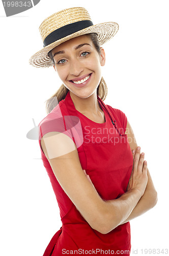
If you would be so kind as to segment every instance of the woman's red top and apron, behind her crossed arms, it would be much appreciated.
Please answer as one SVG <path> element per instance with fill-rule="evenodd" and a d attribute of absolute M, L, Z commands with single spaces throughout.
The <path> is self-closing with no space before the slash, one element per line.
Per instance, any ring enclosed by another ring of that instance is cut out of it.
<path fill-rule="evenodd" d="M 105 105 L 99 97 L 98 102 L 105 114 L 104 123 L 96 123 L 78 112 L 68 92 L 65 100 L 60 101 L 39 123 L 39 144 L 42 136 L 48 132 L 67 134 L 76 143 L 81 167 L 90 176 L 100 197 L 112 200 L 125 193 L 133 158 L 127 135 L 124 134 L 127 125 L 125 114 Z M 103 255 L 113 252 L 129 255 L 129 222 L 107 234 L 91 228 L 61 188 L 42 149 L 41 156 L 58 201 L 62 221 L 61 229 L 54 234 L 43 256 Z"/>

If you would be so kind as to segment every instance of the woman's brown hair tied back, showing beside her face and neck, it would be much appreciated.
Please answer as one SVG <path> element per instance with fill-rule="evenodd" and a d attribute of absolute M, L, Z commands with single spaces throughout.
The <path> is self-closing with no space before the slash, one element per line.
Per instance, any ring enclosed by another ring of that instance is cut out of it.
<path fill-rule="evenodd" d="M 100 44 L 98 40 L 98 36 L 96 33 L 90 33 L 88 34 L 91 37 L 91 40 L 93 41 L 93 44 L 95 45 L 95 48 L 100 55 Z M 53 61 L 53 65 L 55 66 L 55 62 L 53 59 L 53 55 L 51 51 L 48 53 L 48 56 Z M 49 114 L 55 106 L 63 99 L 65 99 L 67 93 L 69 90 L 62 84 L 62 86 L 58 89 L 57 92 L 55 92 L 49 99 L 47 99 L 46 102 L 46 113 Z M 103 79 L 103 77 L 100 80 L 99 86 L 97 88 L 97 95 L 102 99 L 105 100 L 107 96 L 107 85 Z"/>

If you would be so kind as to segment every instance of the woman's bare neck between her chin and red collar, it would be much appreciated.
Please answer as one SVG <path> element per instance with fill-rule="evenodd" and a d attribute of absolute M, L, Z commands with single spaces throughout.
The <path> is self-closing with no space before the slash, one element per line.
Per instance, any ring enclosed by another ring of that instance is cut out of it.
<path fill-rule="evenodd" d="M 80 98 L 71 91 L 70 96 L 74 103 L 75 109 L 80 113 L 97 113 L 101 109 L 97 99 L 97 91 L 95 91 L 88 98 Z"/>

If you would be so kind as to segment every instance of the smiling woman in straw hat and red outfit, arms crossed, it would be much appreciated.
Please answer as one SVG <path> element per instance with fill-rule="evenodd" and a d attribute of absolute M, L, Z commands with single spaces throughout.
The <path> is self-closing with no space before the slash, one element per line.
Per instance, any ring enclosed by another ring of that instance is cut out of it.
<path fill-rule="evenodd" d="M 30 63 L 53 66 L 63 82 L 39 124 L 42 161 L 62 221 L 44 256 L 129 255 L 129 221 L 157 202 L 125 114 L 103 102 L 100 45 L 117 31 L 117 23 L 93 25 L 84 8 L 55 13 L 40 26 L 44 49 Z"/>

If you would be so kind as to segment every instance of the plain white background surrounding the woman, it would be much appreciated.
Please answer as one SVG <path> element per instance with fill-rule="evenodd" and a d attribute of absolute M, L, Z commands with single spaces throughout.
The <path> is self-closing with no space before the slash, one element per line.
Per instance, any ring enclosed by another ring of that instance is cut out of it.
<path fill-rule="evenodd" d="M 38 125 L 46 116 L 44 102 L 62 82 L 53 68 L 34 68 L 29 58 L 43 48 L 38 30 L 43 19 L 78 6 L 88 9 L 94 24 L 119 24 L 117 35 L 104 45 L 105 103 L 126 114 L 158 192 L 157 205 L 130 222 L 131 254 L 169 247 L 168 1 L 41 0 L 11 17 L 1 2 L 2 256 L 42 256 L 62 225 L 38 140 L 26 138 L 34 127 L 32 118 Z"/>

